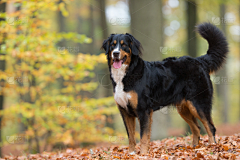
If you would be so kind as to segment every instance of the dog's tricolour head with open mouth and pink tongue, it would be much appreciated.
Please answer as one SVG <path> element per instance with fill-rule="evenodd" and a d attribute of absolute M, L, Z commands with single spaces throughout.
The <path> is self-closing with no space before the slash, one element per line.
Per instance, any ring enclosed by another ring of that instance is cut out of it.
<path fill-rule="evenodd" d="M 130 65 L 133 56 L 142 54 L 142 46 L 131 34 L 111 34 L 104 40 L 102 48 L 106 51 L 108 64 L 115 69 L 122 64 Z"/>

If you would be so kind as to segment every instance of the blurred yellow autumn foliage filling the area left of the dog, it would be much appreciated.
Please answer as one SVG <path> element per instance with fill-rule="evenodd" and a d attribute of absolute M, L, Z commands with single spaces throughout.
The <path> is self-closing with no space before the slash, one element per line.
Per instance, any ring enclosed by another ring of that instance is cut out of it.
<path fill-rule="evenodd" d="M 61 40 L 91 43 L 83 34 L 52 30 L 49 14 L 61 11 L 67 16 L 65 3 L 20 0 L 15 5 L 18 3 L 23 9 L 0 15 L 6 19 L 0 24 L 5 53 L 1 58 L 6 60 L 0 80 L 5 82 L 4 96 L 11 99 L 1 115 L 3 127 L 16 128 L 6 136 L 24 135 L 37 151 L 39 146 L 46 149 L 58 143 L 72 146 L 107 140 L 113 130 L 105 127 L 106 115 L 117 112 L 113 98 L 84 96 L 98 87 L 94 69 L 106 63 L 105 55 L 83 54 L 81 48 L 75 54 L 68 48 L 59 50 Z M 23 128 L 21 133 L 18 126 Z M 3 145 L 12 142 L 3 141 Z"/>

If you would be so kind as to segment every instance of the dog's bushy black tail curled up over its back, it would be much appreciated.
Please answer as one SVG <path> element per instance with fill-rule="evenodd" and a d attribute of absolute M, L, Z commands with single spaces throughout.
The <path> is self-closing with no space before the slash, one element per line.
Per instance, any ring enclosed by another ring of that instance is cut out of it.
<path fill-rule="evenodd" d="M 198 58 L 205 62 L 209 73 L 216 72 L 225 62 L 228 54 L 227 39 L 223 32 L 211 23 L 198 25 L 197 31 L 209 44 L 207 54 Z"/>

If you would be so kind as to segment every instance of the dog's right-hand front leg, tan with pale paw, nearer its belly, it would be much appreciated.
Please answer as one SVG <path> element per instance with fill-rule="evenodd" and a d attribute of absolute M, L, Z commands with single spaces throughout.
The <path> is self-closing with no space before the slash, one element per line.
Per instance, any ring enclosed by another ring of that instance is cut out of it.
<path fill-rule="evenodd" d="M 141 154 L 148 153 L 151 138 L 152 113 L 139 113 Z"/>

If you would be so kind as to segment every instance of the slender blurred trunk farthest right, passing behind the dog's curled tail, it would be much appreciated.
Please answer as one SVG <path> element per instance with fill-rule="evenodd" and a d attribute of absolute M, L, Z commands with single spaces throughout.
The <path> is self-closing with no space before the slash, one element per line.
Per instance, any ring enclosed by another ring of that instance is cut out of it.
<path fill-rule="evenodd" d="M 226 6 L 225 4 L 221 4 L 220 5 L 220 18 L 224 18 L 224 15 L 226 13 Z M 226 35 L 226 24 L 220 23 L 221 24 L 221 29 L 224 32 L 224 34 Z M 227 68 L 226 68 L 226 64 L 223 65 L 222 69 L 219 70 L 219 72 L 217 73 L 217 76 L 220 77 L 220 79 L 224 79 L 227 78 Z M 228 123 L 229 121 L 229 92 L 228 92 L 228 85 L 224 84 L 224 83 L 220 83 L 217 85 L 217 93 L 218 93 L 218 97 L 219 97 L 219 101 L 220 101 L 220 106 L 222 109 L 222 120 L 223 123 Z"/>

